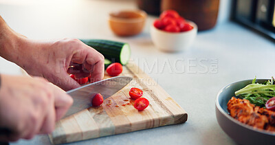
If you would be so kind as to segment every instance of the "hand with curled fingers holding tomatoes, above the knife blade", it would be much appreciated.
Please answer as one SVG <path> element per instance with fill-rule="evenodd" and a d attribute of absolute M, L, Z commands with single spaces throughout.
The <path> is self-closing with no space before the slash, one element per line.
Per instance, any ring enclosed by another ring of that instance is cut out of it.
<path fill-rule="evenodd" d="M 78 39 L 65 38 L 52 42 L 25 39 L 17 64 L 32 76 L 41 76 L 65 91 L 80 87 L 69 77 L 85 78 L 91 75 L 91 82 L 104 76 L 104 56 Z M 74 66 L 74 67 L 70 67 Z"/>

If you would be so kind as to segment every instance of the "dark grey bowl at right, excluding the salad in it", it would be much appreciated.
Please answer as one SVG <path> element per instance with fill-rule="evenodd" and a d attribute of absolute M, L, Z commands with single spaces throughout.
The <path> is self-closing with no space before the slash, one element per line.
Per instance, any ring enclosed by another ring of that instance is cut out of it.
<path fill-rule="evenodd" d="M 256 82 L 263 83 L 267 79 Z M 223 87 L 216 99 L 216 117 L 221 129 L 239 144 L 275 144 L 275 133 L 254 129 L 252 126 L 235 120 L 228 114 L 227 103 L 234 96 L 234 92 L 252 83 L 252 80 L 233 82 Z"/>

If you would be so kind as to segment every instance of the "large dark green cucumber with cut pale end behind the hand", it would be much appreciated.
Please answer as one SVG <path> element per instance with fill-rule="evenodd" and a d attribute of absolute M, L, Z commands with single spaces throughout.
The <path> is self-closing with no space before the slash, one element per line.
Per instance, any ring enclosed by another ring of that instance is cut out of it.
<path fill-rule="evenodd" d="M 80 41 L 96 49 L 111 63 L 126 65 L 131 56 L 131 49 L 128 43 L 100 39 L 80 39 Z"/>

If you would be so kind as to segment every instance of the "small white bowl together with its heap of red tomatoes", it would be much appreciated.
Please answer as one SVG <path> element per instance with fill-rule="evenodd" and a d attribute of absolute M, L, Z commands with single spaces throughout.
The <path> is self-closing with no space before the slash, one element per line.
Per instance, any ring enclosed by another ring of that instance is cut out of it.
<path fill-rule="evenodd" d="M 175 10 L 166 10 L 151 25 L 154 45 L 165 52 L 179 52 L 190 48 L 197 36 L 197 25 Z"/>

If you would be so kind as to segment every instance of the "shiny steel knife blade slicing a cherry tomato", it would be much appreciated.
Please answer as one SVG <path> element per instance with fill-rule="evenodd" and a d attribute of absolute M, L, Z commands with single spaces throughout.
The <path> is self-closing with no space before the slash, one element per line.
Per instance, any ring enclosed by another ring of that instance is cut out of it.
<path fill-rule="evenodd" d="M 73 98 L 74 103 L 63 118 L 67 118 L 69 115 L 91 107 L 91 100 L 96 93 L 100 93 L 105 100 L 120 91 L 120 89 L 129 84 L 131 80 L 133 80 L 133 78 L 128 76 L 116 76 L 67 91 L 67 94 Z"/>

